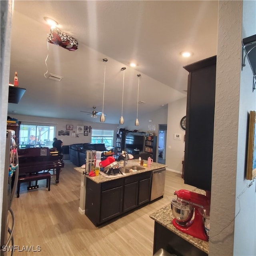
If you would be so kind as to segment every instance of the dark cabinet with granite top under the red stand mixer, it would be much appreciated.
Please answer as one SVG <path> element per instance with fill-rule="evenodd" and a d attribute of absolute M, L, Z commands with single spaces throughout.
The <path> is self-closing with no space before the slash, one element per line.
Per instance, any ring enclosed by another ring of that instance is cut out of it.
<path fill-rule="evenodd" d="M 200 240 L 175 228 L 172 224 L 171 204 L 150 215 L 155 221 L 153 254 L 160 248 L 167 252 L 183 256 L 206 256 L 209 242 Z"/>

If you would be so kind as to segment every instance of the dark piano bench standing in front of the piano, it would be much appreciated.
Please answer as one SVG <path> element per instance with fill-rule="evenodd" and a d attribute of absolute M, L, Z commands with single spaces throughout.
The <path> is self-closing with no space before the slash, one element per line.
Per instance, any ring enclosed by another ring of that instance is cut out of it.
<path fill-rule="evenodd" d="M 51 174 L 50 172 L 40 172 L 40 173 L 34 173 L 34 174 L 27 174 L 19 176 L 18 178 L 18 184 L 17 184 L 17 197 L 20 197 L 20 183 L 22 182 L 31 182 L 38 180 L 45 180 L 46 179 L 46 188 L 48 188 L 48 191 L 50 191 L 50 185 L 51 185 Z M 37 187 L 38 188 L 38 187 Z"/>

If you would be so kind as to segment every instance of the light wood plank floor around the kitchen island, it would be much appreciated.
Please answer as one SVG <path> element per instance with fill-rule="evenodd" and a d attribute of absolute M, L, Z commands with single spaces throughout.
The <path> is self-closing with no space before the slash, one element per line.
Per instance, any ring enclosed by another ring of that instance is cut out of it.
<path fill-rule="evenodd" d="M 14 198 L 12 209 L 16 217 L 14 244 L 40 246 L 40 252 L 19 252 L 15 255 L 152 255 L 154 220 L 149 215 L 170 204 L 174 190 L 192 190 L 184 184 L 181 174 L 167 171 L 164 198 L 118 220 L 95 227 L 86 215 L 78 212 L 80 173 L 65 160 L 60 183 L 55 185 L 52 176 L 48 192 L 46 180 L 38 181 L 39 188 L 27 191 L 22 183 L 20 198 Z"/>

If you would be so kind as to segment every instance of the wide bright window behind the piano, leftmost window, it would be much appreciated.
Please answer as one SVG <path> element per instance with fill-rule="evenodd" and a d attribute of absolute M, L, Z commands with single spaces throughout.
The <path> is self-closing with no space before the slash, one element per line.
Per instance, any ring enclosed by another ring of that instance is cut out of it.
<path fill-rule="evenodd" d="M 20 125 L 19 148 L 52 148 L 55 126 Z"/>

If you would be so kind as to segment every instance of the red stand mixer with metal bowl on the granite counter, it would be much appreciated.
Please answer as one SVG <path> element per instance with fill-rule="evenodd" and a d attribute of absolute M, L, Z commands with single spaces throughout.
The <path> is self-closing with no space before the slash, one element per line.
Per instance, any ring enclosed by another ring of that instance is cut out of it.
<path fill-rule="evenodd" d="M 208 236 L 204 228 L 203 210 L 210 209 L 208 197 L 189 190 L 176 190 L 172 199 L 171 208 L 174 219 L 172 224 L 180 231 L 204 241 Z M 200 211 L 200 212 L 199 212 Z M 194 214 L 194 219 L 193 218 Z"/>

